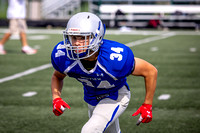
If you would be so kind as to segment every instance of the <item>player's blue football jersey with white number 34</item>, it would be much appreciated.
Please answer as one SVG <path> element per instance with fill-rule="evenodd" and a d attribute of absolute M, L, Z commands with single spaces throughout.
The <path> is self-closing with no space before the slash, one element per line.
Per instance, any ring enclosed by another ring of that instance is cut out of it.
<path fill-rule="evenodd" d="M 59 42 L 51 55 L 53 67 L 69 77 L 76 78 L 83 84 L 84 100 L 95 106 L 99 100 L 109 97 L 118 98 L 118 90 L 128 84 L 126 77 L 134 69 L 135 61 L 131 49 L 124 44 L 103 39 L 99 48 L 96 65 L 86 70 L 80 60 L 67 57 L 65 45 Z"/>

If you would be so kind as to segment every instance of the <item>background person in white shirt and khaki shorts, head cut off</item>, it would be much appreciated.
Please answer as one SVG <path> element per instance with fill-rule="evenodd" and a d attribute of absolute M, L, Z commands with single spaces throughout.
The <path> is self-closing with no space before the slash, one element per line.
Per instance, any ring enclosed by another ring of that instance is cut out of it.
<path fill-rule="evenodd" d="M 9 31 L 0 40 L 0 55 L 5 55 L 4 44 L 11 35 L 19 34 L 22 43 L 22 52 L 28 55 L 36 54 L 37 50 L 28 45 L 26 38 L 26 0 L 9 0 L 7 19 L 9 19 Z"/>

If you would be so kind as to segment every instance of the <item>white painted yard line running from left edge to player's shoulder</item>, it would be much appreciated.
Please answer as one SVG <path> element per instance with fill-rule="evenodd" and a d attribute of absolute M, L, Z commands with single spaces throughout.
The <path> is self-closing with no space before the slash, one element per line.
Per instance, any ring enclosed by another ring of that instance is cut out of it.
<path fill-rule="evenodd" d="M 37 71 L 41 71 L 41 70 L 50 68 L 51 66 L 52 66 L 51 64 L 45 64 L 45 65 L 42 65 L 42 66 L 39 66 L 39 67 L 31 68 L 31 69 L 28 69 L 28 70 L 26 70 L 26 71 L 24 71 L 24 72 L 16 73 L 16 74 L 14 74 L 14 75 L 11 75 L 11 76 L 2 78 L 2 79 L 0 79 L 0 83 L 4 83 L 4 82 L 6 82 L 6 81 L 10 81 L 10 80 L 13 80 L 13 79 L 17 79 L 17 78 L 20 78 L 20 77 L 23 77 L 23 76 L 26 76 L 26 75 L 35 73 L 35 72 L 37 72 Z"/>

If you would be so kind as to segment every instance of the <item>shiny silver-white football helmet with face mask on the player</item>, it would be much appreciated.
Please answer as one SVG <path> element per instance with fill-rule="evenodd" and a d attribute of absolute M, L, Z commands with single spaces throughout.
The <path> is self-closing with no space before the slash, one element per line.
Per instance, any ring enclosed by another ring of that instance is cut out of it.
<path fill-rule="evenodd" d="M 63 31 L 64 44 L 67 49 L 67 56 L 70 59 L 84 59 L 92 56 L 103 43 L 105 25 L 96 15 L 89 12 L 77 13 L 70 18 L 67 28 Z M 72 37 L 85 37 L 84 46 L 72 45 Z M 88 39 L 89 40 L 86 40 Z M 89 43 L 86 43 L 89 41 Z M 81 52 L 79 52 L 81 51 Z"/>

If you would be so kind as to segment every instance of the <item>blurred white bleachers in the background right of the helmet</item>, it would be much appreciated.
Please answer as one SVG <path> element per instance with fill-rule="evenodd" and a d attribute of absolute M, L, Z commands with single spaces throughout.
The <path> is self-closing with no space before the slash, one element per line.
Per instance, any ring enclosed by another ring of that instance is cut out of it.
<path fill-rule="evenodd" d="M 200 25 L 200 0 L 101 0 L 96 5 L 108 27 L 148 27 L 152 20 L 167 28 Z"/>

